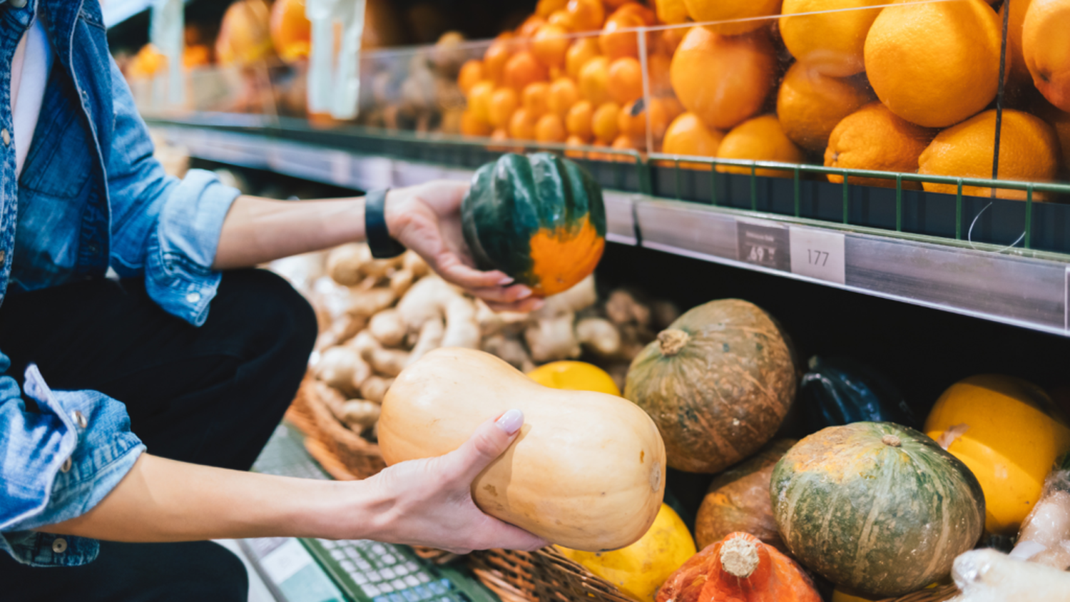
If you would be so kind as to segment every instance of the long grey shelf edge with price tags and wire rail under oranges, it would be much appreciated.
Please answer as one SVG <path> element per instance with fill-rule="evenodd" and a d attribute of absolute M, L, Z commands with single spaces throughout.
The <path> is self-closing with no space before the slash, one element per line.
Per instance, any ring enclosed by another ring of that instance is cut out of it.
<path fill-rule="evenodd" d="M 149 123 L 165 139 L 185 146 L 193 157 L 362 190 L 406 186 L 437 177 L 469 179 L 478 165 L 521 144 L 509 141 L 499 143 L 507 149 L 488 148 L 435 137 L 357 134 L 356 128 L 316 130 L 263 115 L 195 114 L 181 121 Z M 1024 234 L 1033 235 L 1033 243 L 1040 234 L 1038 230 L 1054 229 L 1061 234 L 1061 227 L 1053 223 L 1070 216 L 1067 211 L 1070 207 L 1066 205 L 942 195 L 950 197 L 958 225 L 951 236 L 945 237 L 910 232 L 903 227 L 907 217 L 917 218 L 916 213 L 906 216 L 907 209 L 920 211 L 922 217 L 928 216 L 927 211 L 933 213 L 924 202 L 907 207 L 918 202 L 916 195 L 921 195 L 920 191 L 804 181 L 798 174 L 804 169 L 800 166 L 746 161 L 752 171 L 771 167 L 796 172 L 790 179 L 754 177 L 708 168 L 682 170 L 662 165 L 676 163 L 674 157 L 651 155 L 645 161 L 635 152 L 597 151 L 611 160 L 583 163 L 606 188 L 607 238 L 611 242 L 1070 335 L 1067 303 L 1070 256 L 1011 247 L 1013 237 L 999 244 L 978 242 L 984 237 L 974 235 L 981 219 L 1007 227 L 1005 222 L 1009 220 L 996 213 L 1000 207 L 1011 212 L 1024 210 L 1025 221 L 1020 220 L 1019 226 L 1043 225 L 1043 229 L 1025 230 Z M 686 160 L 701 161 L 692 157 Z M 705 188 L 707 195 L 710 187 L 717 186 L 731 195 L 721 195 L 718 204 L 708 197 L 705 202 L 697 202 L 700 179 L 709 183 Z M 972 184 L 967 180 L 954 179 L 954 182 L 960 187 Z M 804 211 L 808 202 L 827 205 L 828 196 L 824 194 L 827 190 L 819 190 L 809 199 L 800 194 L 804 188 L 824 186 L 842 190 L 837 199 L 839 220 Z M 1034 192 L 1049 189 L 1053 194 L 1067 192 L 1063 189 L 1066 186 L 1057 185 L 1020 187 Z M 746 194 L 739 195 L 740 188 Z M 890 196 L 891 228 L 859 225 L 853 218 L 852 212 L 860 201 L 852 195 L 870 192 L 883 194 L 883 200 Z M 740 197 L 745 198 L 740 201 Z M 969 214 L 964 214 L 963 207 L 982 201 L 992 203 L 989 217 L 964 219 Z M 790 211 L 782 211 L 785 202 Z M 778 207 L 769 206 L 774 204 Z M 1034 222 L 1040 211 L 1050 215 Z M 900 227 L 898 231 L 895 222 Z M 1009 228 L 1013 227 L 1011 222 Z M 994 228 L 988 230 L 989 236 L 993 231 Z M 953 237 L 957 233 L 958 237 Z M 1025 237 L 1028 236 L 1022 235 L 1023 242 Z"/>

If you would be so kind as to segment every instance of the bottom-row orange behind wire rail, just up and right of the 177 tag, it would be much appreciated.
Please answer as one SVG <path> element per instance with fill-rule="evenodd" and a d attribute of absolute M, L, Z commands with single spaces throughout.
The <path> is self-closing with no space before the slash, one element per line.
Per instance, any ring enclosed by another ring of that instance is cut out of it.
<path fill-rule="evenodd" d="M 913 173 L 918 170 L 918 157 L 935 135 L 934 129 L 897 117 L 881 103 L 870 103 L 832 129 L 825 149 L 825 167 Z M 843 176 L 829 174 L 828 181 L 842 184 Z M 896 187 L 895 180 L 881 177 L 851 177 L 850 183 Z M 921 185 L 903 182 L 903 188 L 920 190 Z"/>

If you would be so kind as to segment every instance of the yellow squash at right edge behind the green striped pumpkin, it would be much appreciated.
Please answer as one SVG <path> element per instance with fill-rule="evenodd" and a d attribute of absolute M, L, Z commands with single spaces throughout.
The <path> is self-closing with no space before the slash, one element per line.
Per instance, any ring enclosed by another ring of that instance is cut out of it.
<path fill-rule="evenodd" d="M 1040 387 L 994 374 L 951 385 L 933 405 L 926 433 L 981 483 L 989 532 L 1018 532 L 1052 465 L 1070 450 L 1070 428 L 1057 413 Z"/>

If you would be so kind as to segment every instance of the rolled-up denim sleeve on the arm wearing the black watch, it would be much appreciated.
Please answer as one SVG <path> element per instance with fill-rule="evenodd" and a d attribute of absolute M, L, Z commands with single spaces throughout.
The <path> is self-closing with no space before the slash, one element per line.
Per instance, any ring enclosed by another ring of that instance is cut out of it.
<path fill-rule="evenodd" d="M 122 277 L 143 276 L 153 300 L 200 326 L 219 284 L 212 263 L 223 221 L 240 192 L 210 171 L 192 169 L 182 180 L 164 173 L 114 60 L 111 82 L 116 125 L 106 159 L 111 268 Z"/>

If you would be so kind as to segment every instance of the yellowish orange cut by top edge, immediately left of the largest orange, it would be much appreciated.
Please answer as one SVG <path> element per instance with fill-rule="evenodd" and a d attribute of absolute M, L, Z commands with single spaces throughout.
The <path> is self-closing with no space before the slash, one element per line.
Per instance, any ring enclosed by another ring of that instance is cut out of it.
<path fill-rule="evenodd" d="M 784 0 L 780 36 L 788 51 L 812 68 L 847 77 L 866 68 L 866 34 L 881 9 L 858 10 L 885 0 Z M 831 11 L 831 12 L 828 12 Z M 791 16 L 797 13 L 798 16 Z"/>

